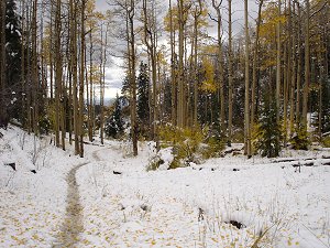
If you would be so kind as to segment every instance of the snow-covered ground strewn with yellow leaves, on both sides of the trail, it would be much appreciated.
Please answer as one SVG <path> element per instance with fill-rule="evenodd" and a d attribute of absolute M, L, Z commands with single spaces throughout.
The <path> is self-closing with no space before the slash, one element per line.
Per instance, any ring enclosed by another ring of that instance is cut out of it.
<path fill-rule="evenodd" d="M 0 247 L 61 246 L 74 168 L 84 228 L 73 247 L 330 247 L 329 150 L 146 172 L 150 143 L 140 143 L 138 158 L 125 142 L 86 145 L 79 159 L 45 138 L 35 166 L 33 137 L 22 151 L 22 131 L 1 132 Z M 314 165 L 299 171 L 298 160 Z"/>

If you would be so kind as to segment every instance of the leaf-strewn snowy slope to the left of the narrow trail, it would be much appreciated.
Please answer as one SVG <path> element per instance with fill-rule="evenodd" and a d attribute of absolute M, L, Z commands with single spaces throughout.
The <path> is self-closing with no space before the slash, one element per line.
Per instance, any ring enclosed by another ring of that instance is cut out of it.
<path fill-rule="evenodd" d="M 65 176 L 85 159 L 51 145 L 51 138 L 34 142 L 16 128 L 0 131 L 0 247 L 51 247 L 65 215 Z M 4 165 L 11 162 L 16 171 Z"/>

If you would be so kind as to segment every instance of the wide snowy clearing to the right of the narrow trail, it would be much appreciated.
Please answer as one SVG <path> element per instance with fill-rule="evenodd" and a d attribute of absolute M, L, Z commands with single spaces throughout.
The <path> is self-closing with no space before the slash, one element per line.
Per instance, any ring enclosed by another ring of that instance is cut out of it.
<path fill-rule="evenodd" d="M 241 157 L 145 172 L 152 151 L 141 148 L 138 158 L 123 159 L 123 144 L 111 143 L 80 170 L 85 246 L 251 247 L 264 233 L 258 247 L 330 246 L 330 166 L 298 173 L 294 162 Z M 327 154 L 289 155 L 320 164 Z"/>

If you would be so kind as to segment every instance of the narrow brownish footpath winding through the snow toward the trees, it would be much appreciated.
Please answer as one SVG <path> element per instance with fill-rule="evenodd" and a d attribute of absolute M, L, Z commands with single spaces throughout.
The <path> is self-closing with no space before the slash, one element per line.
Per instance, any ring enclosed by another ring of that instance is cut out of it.
<path fill-rule="evenodd" d="M 62 226 L 62 231 L 58 237 L 57 244 L 54 248 L 59 247 L 73 247 L 79 238 L 79 234 L 84 231 L 82 224 L 82 207 L 79 200 L 79 186 L 76 181 L 76 172 L 88 163 L 81 163 L 72 169 L 66 177 L 68 184 L 67 190 L 67 206 L 66 216 Z"/>

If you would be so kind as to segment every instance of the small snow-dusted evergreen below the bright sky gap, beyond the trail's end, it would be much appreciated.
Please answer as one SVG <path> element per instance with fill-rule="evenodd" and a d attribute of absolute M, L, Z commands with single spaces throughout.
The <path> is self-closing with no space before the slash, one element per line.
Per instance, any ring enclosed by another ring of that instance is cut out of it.
<path fill-rule="evenodd" d="M 114 101 L 114 109 L 110 118 L 106 121 L 106 134 L 114 139 L 119 138 L 124 130 L 124 121 L 122 118 L 122 103 L 118 95 Z"/>

